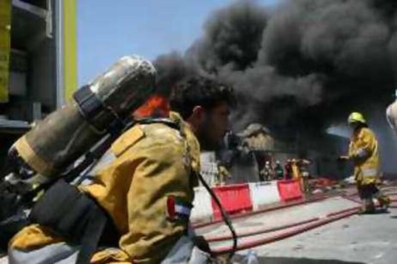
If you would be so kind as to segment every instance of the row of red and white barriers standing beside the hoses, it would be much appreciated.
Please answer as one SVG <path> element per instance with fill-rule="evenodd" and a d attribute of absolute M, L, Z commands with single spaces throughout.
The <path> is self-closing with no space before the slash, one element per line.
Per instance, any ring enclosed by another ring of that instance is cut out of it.
<path fill-rule="evenodd" d="M 229 214 L 259 211 L 277 202 L 303 198 L 300 184 L 296 180 L 231 184 L 213 187 L 212 190 Z M 195 195 L 191 222 L 208 222 L 221 217 L 219 208 L 203 187 L 196 188 Z"/>

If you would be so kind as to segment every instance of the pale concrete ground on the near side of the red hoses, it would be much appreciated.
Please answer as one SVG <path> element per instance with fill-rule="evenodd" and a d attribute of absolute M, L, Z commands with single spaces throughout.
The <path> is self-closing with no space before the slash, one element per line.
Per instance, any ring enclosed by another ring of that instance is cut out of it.
<path fill-rule="evenodd" d="M 262 263 L 397 263 L 397 210 L 353 215 L 255 248 Z M 241 255 L 247 251 L 239 252 Z M 319 262 L 321 261 L 321 262 Z"/>

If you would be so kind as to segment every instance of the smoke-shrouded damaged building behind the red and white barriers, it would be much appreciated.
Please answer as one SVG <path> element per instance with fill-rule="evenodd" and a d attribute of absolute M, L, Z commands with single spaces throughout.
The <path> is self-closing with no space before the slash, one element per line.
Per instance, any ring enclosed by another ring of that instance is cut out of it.
<path fill-rule="evenodd" d="M 266 162 L 275 166 L 278 161 L 284 167 L 292 159 L 310 160 L 308 171 L 313 177 L 340 179 L 349 176 L 351 168 L 337 162 L 335 157 L 344 153 L 347 146 L 348 139 L 341 136 L 324 133 L 315 141 L 299 135 L 274 136 L 265 126 L 253 123 L 240 133 L 228 133 L 223 150 L 203 152 L 201 166 L 207 182 L 212 185 L 219 180 L 219 165 L 230 174 L 224 178 L 226 184 L 257 182 L 265 179 Z"/>

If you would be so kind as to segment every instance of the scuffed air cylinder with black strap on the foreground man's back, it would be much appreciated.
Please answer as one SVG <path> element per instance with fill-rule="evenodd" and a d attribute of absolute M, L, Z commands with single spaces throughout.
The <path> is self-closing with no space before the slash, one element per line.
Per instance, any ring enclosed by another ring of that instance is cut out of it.
<path fill-rule="evenodd" d="M 149 61 L 138 56 L 120 58 L 12 145 L 8 158 L 14 172 L 21 179 L 59 175 L 110 129 L 123 125 L 154 92 L 155 77 Z"/>

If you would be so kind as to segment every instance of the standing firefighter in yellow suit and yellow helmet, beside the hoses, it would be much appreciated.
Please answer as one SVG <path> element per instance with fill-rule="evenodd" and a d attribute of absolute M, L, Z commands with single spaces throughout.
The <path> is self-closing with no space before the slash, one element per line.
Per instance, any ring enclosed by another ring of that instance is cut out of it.
<path fill-rule="evenodd" d="M 363 202 L 361 213 L 375 212 L 373 198 L 377 198 L 380 206 L 387 208 L 389 197 L 378 189 L 379 183 L 379 146 L 374 132 L 369 129 L 364 116 L 352 112 L 347 122 L 353 133 L 349 145 L 349 153 L 342 160 L 352 160 L 354 163 L 354 178 L 360 199 Z"/>

